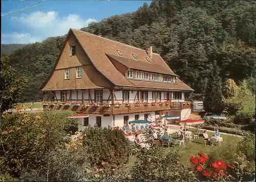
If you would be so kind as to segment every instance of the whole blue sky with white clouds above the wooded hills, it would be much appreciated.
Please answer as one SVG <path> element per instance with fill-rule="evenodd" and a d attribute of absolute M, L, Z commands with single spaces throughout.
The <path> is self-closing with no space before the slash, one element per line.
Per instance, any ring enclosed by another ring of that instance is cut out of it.
<path fill-rule="evenodd" d="M 2 1 L 1 43 L 33 43 L 65 35 L 69 28 L 80 29 L 103 18 L 136 11 L 151 1 L 42 1 L 21 11 L 16 8 L 38 1 Z"/>

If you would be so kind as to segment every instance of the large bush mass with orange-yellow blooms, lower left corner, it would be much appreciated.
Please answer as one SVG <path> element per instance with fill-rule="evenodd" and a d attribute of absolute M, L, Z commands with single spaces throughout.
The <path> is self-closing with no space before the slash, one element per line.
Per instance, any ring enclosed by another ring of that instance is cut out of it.
<path fill-rule="evenodd" d="M 63 126 L 69 123 L 69 113 L 64 115 L 53 110 L 41 112 L 40 116 L 33 113 L 5 115 L 1 128 L 0 171 L 19 177 L 27 168 L 44 166 L 45 155 L 67 141 Z"/>

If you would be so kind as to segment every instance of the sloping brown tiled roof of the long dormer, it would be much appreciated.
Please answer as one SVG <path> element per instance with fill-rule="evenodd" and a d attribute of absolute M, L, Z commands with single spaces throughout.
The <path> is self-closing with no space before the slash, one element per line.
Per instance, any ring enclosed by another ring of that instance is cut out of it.
<path fill-rule="evenodd" d="M 111 55 L 111 54 L 106 54 L 106 55 L 115 59 L 116 61 L 120 62 L 121 64 L 125 65 L 126 67 L 129 67 L 130 69 L 178 76 L 172 70 L 168 70 L 169 67 L 167 67 L 167 66 L 162 67 L 158 64 L 148 63 L 148 62 L 144 62 L 144 61 L 136 61 L 134 59 L 124 58 L 121 56 L 116 56 L 116 55 Z"/>

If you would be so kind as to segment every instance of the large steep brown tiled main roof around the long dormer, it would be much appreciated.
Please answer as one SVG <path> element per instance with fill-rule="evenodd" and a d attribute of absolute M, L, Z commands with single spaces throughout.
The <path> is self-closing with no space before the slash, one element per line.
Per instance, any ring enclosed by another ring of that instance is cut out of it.
<path fill-rule="evenodd" d="M 146 82 L 146 81 L 137 81 L 137 80 L 127 80 L 120 72 L 117 71 L 116 67 L 110 61 L 108 56 L 110 55 L 114 59 L 117 59 L 118 62 L 125 64 L 127 67 L 137 69 L 143 69 L 146 67 L 147 71 L 175 75 L 174 72 L 169 68 L 165 61 L 161 58 L 159 54 L 152 54 L 151 63 L 148 63 L 145 60 L 147 56 L 146 51 L 126 45 L 120 42 L 116 42 L 110 39 L 99 37 L 87 32 L 80 30 L 70 29 L 68 35 L 73 32 L 76 39 L 80 43 L 84 52 L 88 55 L 94 67 L 110 82 L 114 85 L 125 85 L 125 86 L 144 86 L 151 88 L 167 88 L 167 89 L 184 89 L 184 90 L 193 90 L 185 83 L 177 80 L 176 84 L 164 84 L 156 82 Z M 120 50 L 123 53 L 122 57 L 118 56 L 116 50 Z M 136 54 L 138 60 L 134 60 L 132 54 Z M 116 55 L 116 56 L 115 56 Z M 127 63 L 127 62 L 129 63 Z M 135 64 L 137 63 L 137 64 Z M 57 61 L 55 63 L 55 66 Z M 148 66 L 147 66 L 148 65 Z M 145 70 L 145 69 L 144 69 Z M 52 74 L 49 76 L 49 78 Z M 166 87 L 167 86 L 167 87 Z"/>

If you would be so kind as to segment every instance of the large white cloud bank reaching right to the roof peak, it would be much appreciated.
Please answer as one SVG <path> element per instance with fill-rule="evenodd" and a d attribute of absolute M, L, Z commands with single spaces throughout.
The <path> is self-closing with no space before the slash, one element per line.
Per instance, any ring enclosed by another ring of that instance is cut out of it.
<path fill-rule="evenodd" d="M 31 14 L 23 14 L 20 17 L 12 17 L 11 19 L 15 21 L 15 24 L 25 26 L 30 33 L 15 32 L 12 34 L 2 34 L 5 42 L 8 43 L 32 43 L 38 40 L 41 41 L 47 37 L 65 35 L 70 28 L 81 29 L 87 27 L 93 21 L 97 22 L 94 18 L 83 19 L 76 14 L 59 17 L 58 12 L 55 11 L 36 11 Z"/>

